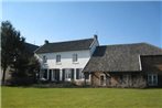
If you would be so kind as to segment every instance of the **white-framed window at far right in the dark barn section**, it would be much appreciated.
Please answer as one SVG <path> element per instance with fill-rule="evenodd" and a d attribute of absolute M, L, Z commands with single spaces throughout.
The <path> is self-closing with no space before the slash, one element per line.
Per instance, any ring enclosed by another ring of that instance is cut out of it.
<path fill-rule="evenodd" d="M 148 75 L 148 85 L 150 85 L 150 86 L 158 85 L 158 75 L 156 74 L 149 74 Z"/>

